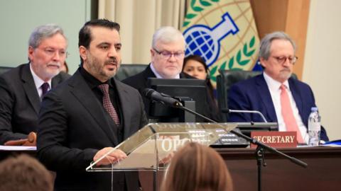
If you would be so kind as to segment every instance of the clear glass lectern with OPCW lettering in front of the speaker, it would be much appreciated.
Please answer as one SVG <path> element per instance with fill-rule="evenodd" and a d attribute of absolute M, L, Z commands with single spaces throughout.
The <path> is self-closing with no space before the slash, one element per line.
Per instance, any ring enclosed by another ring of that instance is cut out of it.
<path fill-rule="evenodd" d="M 166 170 L 170 156 L 186 142 L 196 141 L 209 146 L 220 138 L 220 134 L 226 134 L 235 127 L 237 123 L 151 123 L 92 162 L 86 170 L 152 170 L 157 173 L 158 170 Z M 99 161 L 116 149 L 124 151 L 127 157 L 108 166 L 97 166 Z M 154 175 L 154 182 L 156 177 Z"/>

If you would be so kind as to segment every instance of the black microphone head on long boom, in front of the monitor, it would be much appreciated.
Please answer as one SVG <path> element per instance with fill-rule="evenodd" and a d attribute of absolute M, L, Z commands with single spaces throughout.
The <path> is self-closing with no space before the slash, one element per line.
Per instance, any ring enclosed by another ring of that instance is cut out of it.
<path fill-rule="evenodd" d="M 183 106 L 182 103 L 180 103 L 178 100 L 175 100 L 171 96 L 168 96 L 164 93 L 158 93 L 151 88 L 145 88 L 144 91 L 142 91 L 142 96 L 145 96 L 146 98 L 154 101 L 158 101 L 163 105 L 171 106 L 173 108 L 181 108 Z"/>

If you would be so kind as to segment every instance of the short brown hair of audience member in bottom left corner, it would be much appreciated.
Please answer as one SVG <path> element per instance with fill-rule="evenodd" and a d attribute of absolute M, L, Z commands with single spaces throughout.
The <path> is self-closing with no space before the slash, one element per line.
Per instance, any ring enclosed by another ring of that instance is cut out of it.
<path fill-rule="evenodd" d="M 52 191 L 53 176 L 36 158 L 9 157 L 0 163 L 0 190 Z"/>

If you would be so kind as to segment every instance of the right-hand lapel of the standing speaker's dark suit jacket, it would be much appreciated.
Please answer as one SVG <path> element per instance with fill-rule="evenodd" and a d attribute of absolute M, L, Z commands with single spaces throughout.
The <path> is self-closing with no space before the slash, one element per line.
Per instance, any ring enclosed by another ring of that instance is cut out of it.
<path fill-rule="evenodd" d="M 117 88 L 117 93 L 119 94 L 119 104 L 121 105 L 121 112 L 124 121 L 124 139 L 129 137 L 130 127 L 131 127 L 131 108 L 127 107 L 129 104 L 129 98 L 131 95 L 126 91 L 124 86 L 114 79 L 115 86 Z"/>

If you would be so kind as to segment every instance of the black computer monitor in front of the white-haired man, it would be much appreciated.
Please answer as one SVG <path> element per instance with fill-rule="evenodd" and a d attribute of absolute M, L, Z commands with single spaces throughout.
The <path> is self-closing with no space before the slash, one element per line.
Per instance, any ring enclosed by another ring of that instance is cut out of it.
<path fill-rule="evenodd" d="M 147 81 L 148 88 L 153 88 L 159 93 L 167 94 L 181 100 L 193 100 L 195 111 L 201 115 L 209 116 L 207 110 L 207 88 L 204 80 L 200 79 L 156 79 Z M 178 108 L 171 108 L 161 103 L 153 102 L 149 105 L 149 117 L 152 122 L 185 122 L 185 112 Z M 185 105 L 186 107 L 186 105 Z M 204 122 L 200 117 L 195 117 L 195 122 Z"/>

